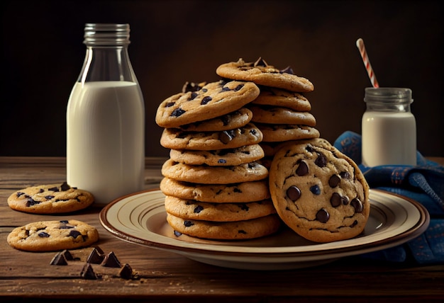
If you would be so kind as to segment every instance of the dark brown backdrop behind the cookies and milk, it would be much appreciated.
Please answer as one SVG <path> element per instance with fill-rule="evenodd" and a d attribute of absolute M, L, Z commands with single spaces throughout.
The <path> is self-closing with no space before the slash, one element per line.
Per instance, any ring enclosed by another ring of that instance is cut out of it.
<path fill-rule="evenodd" d="M 290 65 L 321 136 L 360 133 L 370 86 L 411 88 L 418 150 L 444 156 L 443 6 L 438 1 L 3 1 L 0 156 L 65 156 L 65 110 L 82 67 L 84 23 L 130 23 L 146 108 L 146 155 L 167 156 L 157 105 L 185 81 L 215 81 L 239 57 Z"/>

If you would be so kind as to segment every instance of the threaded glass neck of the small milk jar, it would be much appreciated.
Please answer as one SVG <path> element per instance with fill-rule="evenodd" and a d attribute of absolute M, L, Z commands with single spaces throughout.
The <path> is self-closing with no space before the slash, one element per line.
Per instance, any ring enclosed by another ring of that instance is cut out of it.
<path fill-rule="evenodd" d="M 409 113 L 413 102 L 409 88 L 365 88 L 367 111 Z"/>

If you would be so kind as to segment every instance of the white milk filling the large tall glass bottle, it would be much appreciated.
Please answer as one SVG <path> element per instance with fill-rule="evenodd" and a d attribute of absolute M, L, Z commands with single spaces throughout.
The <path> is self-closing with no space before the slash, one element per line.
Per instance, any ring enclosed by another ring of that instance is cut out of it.
<path fill-rule="evenodd" d="M 107 204 L 143 189 L 145 110 L 137 84 L 74 84 L 67 105 L 67 183 Z"/>

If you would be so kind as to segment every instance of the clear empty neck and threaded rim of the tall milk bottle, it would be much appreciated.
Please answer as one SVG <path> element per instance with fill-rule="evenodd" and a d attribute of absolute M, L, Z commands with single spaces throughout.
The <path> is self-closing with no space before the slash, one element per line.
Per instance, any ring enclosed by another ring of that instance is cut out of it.
<path fill-rule="evenodd" d="M 85 25 L 87 52 L 77 81 L 131 81 L 137 83 L 128 56 L 128 24 Z"/>

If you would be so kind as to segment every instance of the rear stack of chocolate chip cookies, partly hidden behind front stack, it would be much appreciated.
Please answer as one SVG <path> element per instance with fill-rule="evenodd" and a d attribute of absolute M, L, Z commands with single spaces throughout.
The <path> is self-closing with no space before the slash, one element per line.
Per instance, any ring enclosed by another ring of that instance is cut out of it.
<path fill-rule="evenodd" d="M 319 137 L 316 119 L 310 113 L 311 104 L 302 93 L 313 91 L 308 79 L 296 76 L 291 68 L 279 70 L 262 58 L 256 62 L 221 64 L 216 69 L 219 76 L 238 81 L 252 81 L 260 94 L 248 105 L 252 122 L 263 134 L 261 147 L 265 151 L 262 163 L 269 167 L 280 144 L 290 140 Z"/>

